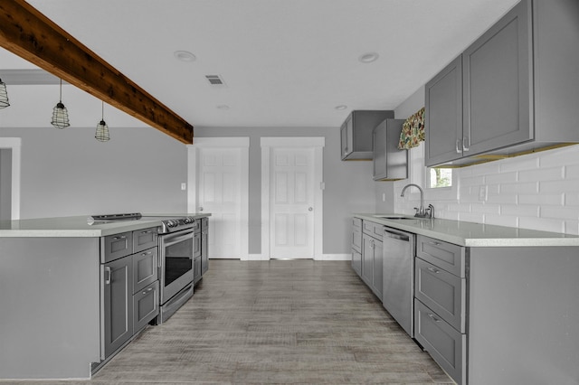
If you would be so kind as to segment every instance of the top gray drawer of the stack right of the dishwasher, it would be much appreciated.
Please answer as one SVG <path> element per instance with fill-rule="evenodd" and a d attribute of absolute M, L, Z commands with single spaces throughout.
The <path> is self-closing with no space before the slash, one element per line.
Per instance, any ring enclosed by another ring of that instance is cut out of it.
<path fill-rule="evenodd" d="M 458 277 L 466 277 L 466 248 L 419 235 L 416 238 L 416 257 Z"/>

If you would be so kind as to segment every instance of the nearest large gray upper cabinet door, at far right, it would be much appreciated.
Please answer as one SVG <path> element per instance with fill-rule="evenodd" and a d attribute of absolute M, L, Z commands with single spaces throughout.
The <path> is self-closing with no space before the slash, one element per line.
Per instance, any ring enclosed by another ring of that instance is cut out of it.
<path fill-rule="evenodd" d="M 523 1 L 463 52 L 464 155 L 533 139 L 530 26 Z"/>

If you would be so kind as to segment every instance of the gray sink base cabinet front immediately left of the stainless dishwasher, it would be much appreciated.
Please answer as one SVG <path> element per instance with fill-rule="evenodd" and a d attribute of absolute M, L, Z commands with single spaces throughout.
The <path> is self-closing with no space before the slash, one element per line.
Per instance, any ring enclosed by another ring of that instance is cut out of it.
<path fill-rule="evenodd" d="M 372 221 L 363 221 L 362 234 L 362 280 L 372 289 L 375 296 L 382 301 L 383 296 L 383 243 L 384 225 Z"/>

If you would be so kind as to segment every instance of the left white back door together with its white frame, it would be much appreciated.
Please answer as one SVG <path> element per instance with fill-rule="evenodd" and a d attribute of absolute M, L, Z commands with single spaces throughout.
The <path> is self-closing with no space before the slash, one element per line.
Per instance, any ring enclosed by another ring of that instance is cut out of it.
<path fill-rule="evenodd" d="M 211 213 L 209 258 L 247 259 L 247 147 L 226 146 L 228 138 L 222 138 L 221 146 L 218 138 L 211 146 L 200 139 L 193 146 L 195 183 L 189 185 L 195 193 L 189 211 Z"/>

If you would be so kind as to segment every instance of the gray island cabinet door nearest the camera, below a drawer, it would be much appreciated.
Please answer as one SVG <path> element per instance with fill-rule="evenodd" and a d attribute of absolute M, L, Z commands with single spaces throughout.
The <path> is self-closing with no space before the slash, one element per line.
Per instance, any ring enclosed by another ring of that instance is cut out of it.
<path fill-rule="evenodd" d="M 104 356 L 133 336 L 133 261 L 131 256 L 104 265 Z"/>

